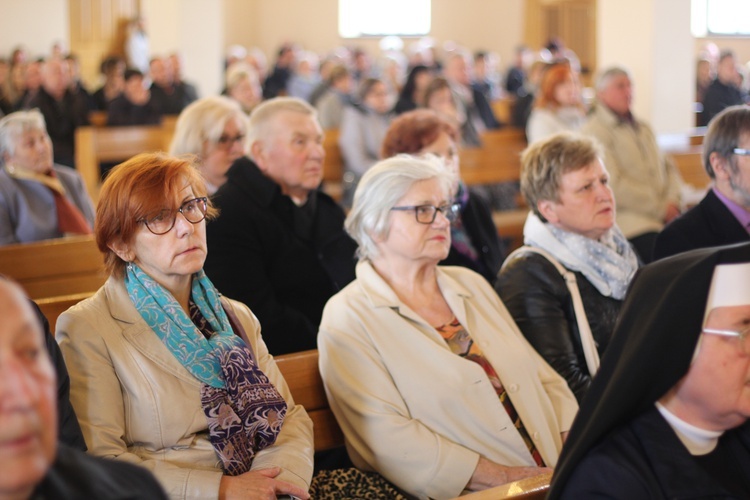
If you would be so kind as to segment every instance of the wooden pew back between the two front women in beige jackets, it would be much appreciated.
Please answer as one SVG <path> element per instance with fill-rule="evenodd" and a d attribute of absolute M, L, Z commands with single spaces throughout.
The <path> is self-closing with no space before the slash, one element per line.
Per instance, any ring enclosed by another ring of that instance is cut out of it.
<path fill-rule="evenodd" d="M 294 402 L 304 406 L 313 421 L 315 451 L 343 446 L 344 435 L 328 406 L 323 380 L 318 371 L 318 351 L 284 354 L 275 359 L 289 385 Z"/>

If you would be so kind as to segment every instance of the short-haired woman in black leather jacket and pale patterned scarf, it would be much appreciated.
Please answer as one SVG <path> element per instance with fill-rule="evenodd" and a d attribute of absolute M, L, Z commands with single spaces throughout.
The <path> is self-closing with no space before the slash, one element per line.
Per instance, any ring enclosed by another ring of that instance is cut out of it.
<path fill-rule="evenodd" d="M 615 224 L 615 199 L 598 146 L 561 133 L 521 156 L 531 207 L 524 243 L 495 289 L 528 341 L 580 402 L 609 344 L 638 259 Z"/>

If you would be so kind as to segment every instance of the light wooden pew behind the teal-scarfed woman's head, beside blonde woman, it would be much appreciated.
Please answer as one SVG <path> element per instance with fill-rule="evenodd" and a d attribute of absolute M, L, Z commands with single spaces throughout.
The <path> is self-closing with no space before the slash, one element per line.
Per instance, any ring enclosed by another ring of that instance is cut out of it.
<path fill-rule="evenodd" d="M 149 151 L 166 151 L 171 133 L 160 126 L 78 127 L 75 133 L 76 169 L 91 199 L 99 199 L 101 162 L 120 162 Z"/>

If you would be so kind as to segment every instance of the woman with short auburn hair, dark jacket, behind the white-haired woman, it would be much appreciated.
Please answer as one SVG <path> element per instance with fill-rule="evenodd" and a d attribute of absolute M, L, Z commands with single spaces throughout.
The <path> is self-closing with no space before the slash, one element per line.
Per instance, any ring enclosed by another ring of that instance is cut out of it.
<path fill-rule="evenodd" d="M 463 266 L 495 282 L 505 252 L 492 222 L 487 203 L 469 192 L 458 177 L 458 131 L 435 111 L 419 109 L 404 113 L 391 123 L 381 150 L 383 158 L 400 153 L 433 154 L 443 159 L 458 182 L 451 193 L 460 211 L 451 223 L 451 248 L 440 264 Z"/>

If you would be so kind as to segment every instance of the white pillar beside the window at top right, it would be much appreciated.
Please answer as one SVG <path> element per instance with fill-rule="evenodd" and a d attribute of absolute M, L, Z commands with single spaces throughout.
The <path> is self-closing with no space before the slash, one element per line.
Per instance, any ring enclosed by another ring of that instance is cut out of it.
<path fill-rule="evenodd" d="M 631 71 L 637 116 L 649 122 L 656 133 L 693 127 L 695 64 L 690 2 L 600 0 L 597 38 L 600 70 L 621 65 Z"/>

